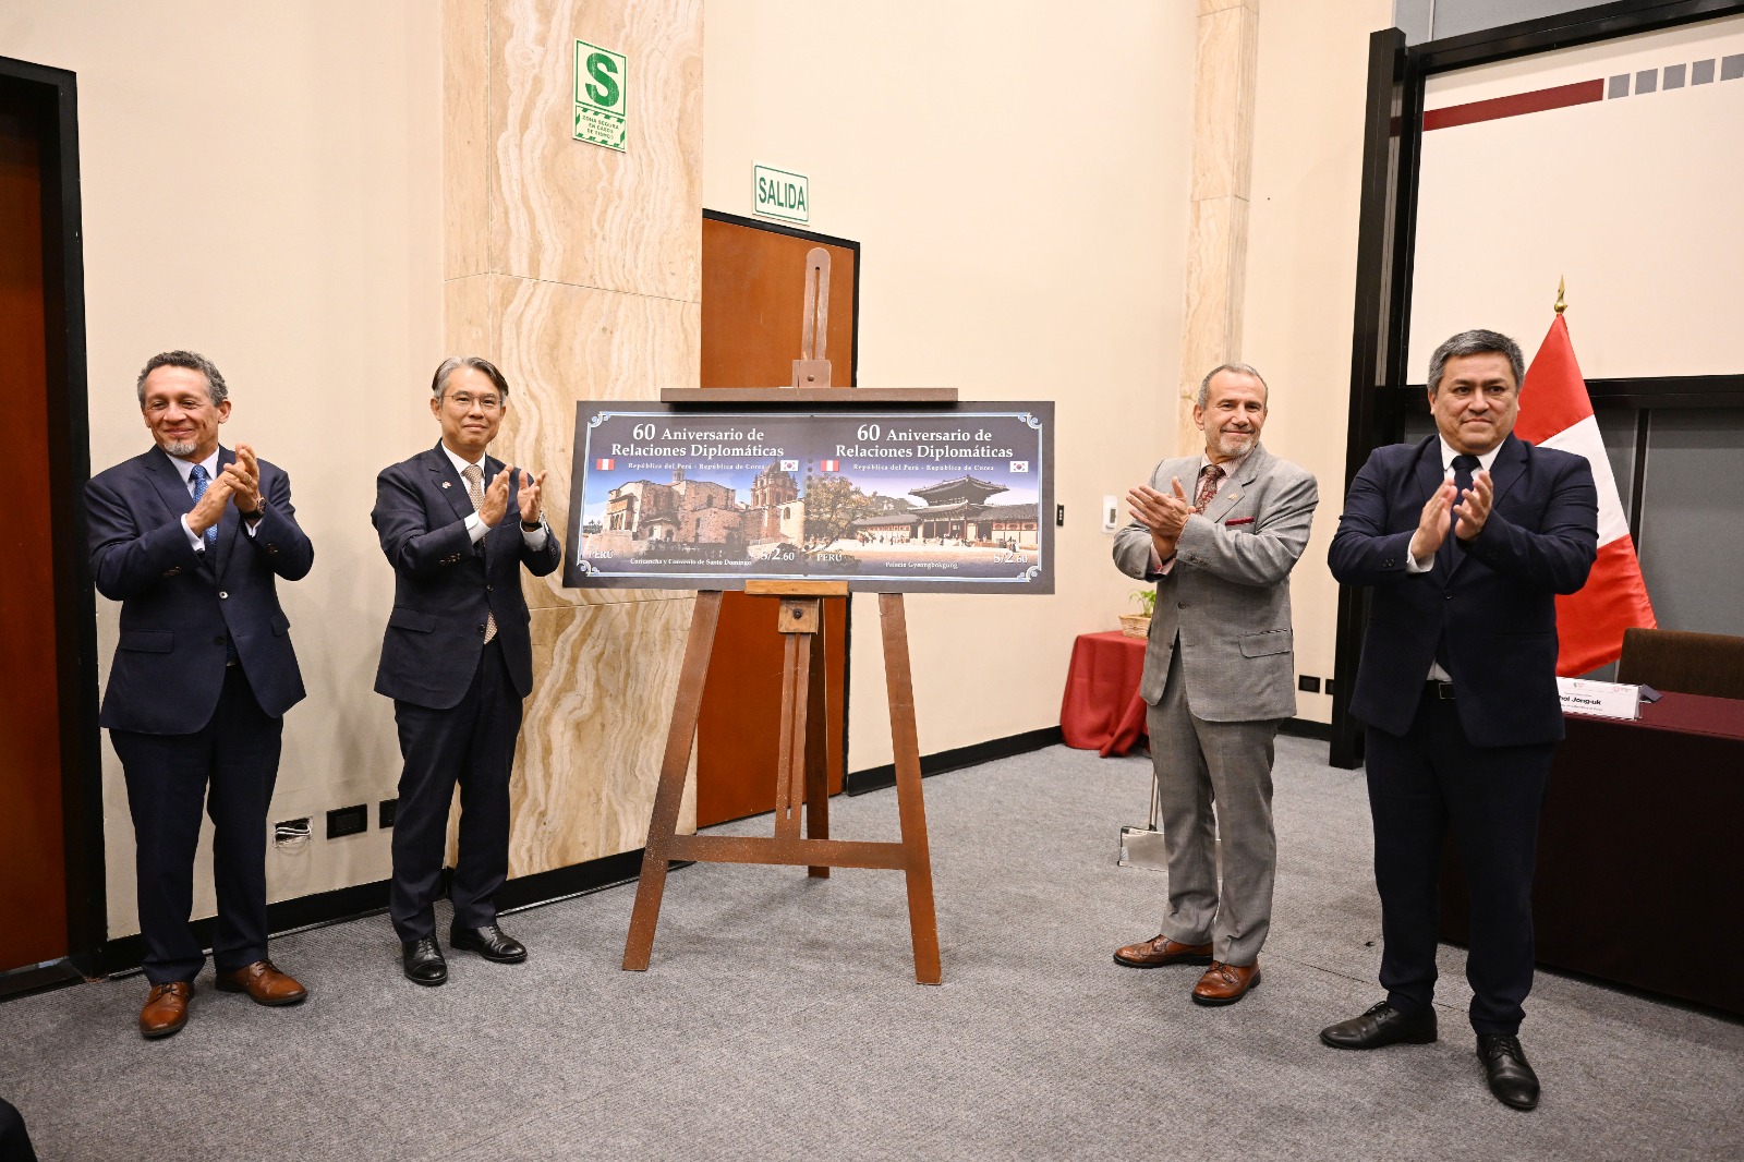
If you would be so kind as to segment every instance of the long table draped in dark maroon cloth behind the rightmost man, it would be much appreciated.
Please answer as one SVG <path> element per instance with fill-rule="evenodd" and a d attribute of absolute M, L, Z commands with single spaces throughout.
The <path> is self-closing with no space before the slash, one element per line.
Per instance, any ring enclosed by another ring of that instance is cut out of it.
<path fill-rule="evenodd" d="M 1536 960 L 1744 1014 L 1744 701 L 1664 694 L 1627 722 L 1570 714 L 1533 883 Z M 1470 935 L 1442 850 L 1444 940 Z"/>

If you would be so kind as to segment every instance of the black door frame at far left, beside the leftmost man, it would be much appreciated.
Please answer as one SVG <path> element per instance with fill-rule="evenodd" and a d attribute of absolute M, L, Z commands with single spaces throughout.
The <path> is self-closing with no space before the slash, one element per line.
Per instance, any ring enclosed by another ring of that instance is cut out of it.
<path fill-rule="evenodd" d="M 0 975 L 0 996 L 94 975 L 108 939 L 103 864 L 103 738 L 98 729 L 96 590 L 85 546 L 91 478 L 85 258 L 78 187 L 78 85 L 72 72 L 0 56 L 0 92 L 37 119 L 42 141 L 42 274 L 54 476 L 54 680 L 61 705 L 61 820 L 66 851 L 65 961 Z"/>

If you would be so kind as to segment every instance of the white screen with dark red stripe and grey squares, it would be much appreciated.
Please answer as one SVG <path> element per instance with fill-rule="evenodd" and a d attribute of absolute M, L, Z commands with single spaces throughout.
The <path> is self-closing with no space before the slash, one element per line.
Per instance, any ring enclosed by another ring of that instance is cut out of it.
<path fill-rule="evenodd" d="M 1589 379 L 1735 375 L 1744 17 L 1430 77 L 1409 377 L 1472 326 L 1529 359 L 1568 277 Z"/>

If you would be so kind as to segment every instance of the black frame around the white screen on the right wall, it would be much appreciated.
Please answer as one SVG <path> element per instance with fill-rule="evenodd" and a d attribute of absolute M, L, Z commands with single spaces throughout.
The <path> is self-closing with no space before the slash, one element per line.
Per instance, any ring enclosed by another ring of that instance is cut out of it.
<path fill-rule="evenodd" d="M 1423 85 L 1437 75 L 1552 49 L 1613 40 L 1744 12 L 1744 0 L 1618 0 L 1519 24 L 1411 47 L 1388 28 L 1369 37 L 1369 101 L 1362 141 L 1362 216 L 1350 356 L 1350 426 L 1345 490 L 1374 448 L 1404 438 L 1406 417 L 1427 410 L 1423 386 L 1406 382 L 1411 333 L 1411 263 L 1416 251 Z M 1591 380 L 1596 408 L 1634 408 L 1636 469 L 1645 459 L 1650 408 L 1720 408 L 1744 403 L 1744 375 Z M 1639 497 L 1639 478 L 1634 496 Z M 1631 513 L 1636 532 L 1639 511 Z M 1332 766 L 1362 762 L 1362 724 L 1350 714 L 1367 626 L 1367 590 L 1338 590 L 1332 670 Z"/>

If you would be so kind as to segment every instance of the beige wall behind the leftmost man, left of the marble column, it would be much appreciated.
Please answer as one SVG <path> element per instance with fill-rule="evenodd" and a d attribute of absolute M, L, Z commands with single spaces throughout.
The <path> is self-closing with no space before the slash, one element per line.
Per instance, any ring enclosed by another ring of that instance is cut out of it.
<path fill-rule="evenodd" d="M 150 447 L 134 375 L 166 347 L 230 382 L 223 440 L 291 476 L 316 567 L 281 584 L 309 700 L 286 717 L 272 817 L 317 837 L 269 855 L 286 899 L 387 876 L 392 712 L 370 691 L 392 576 L 375 471 L 424 440 L 441 354 L 438 12 L 426 3 L 9 0 L 0 52 L 78 75 L 91 462 Z M 98 598 L 103 675 L 119 605 Z M 138 932 L 133 825 L 105 740 L 110 933 Z M 326 843 L 324 811 L 371 804 Z M 209 825 L 208 825 L 209 830 Z M 209 846 L 202 848 L 209 850 Z M 195 914 L 213 907 L 209 860 Z"/>

